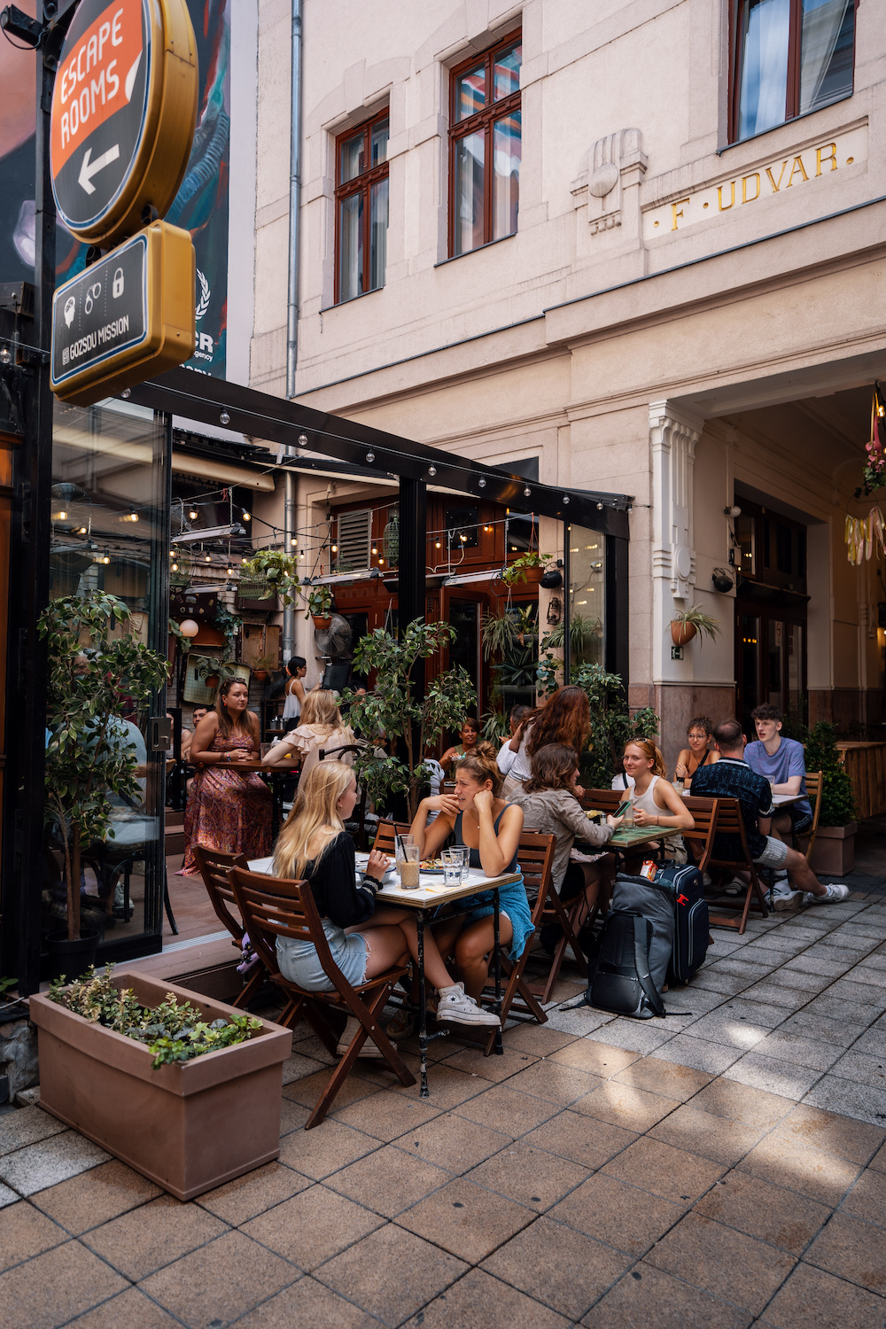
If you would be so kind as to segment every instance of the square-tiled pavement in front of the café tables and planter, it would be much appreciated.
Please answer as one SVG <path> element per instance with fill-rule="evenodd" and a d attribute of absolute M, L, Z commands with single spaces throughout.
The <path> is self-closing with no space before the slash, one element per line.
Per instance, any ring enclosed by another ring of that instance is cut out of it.
<path fill-rule="evenodd" d="M 0 1116 L 0 1322 L 886 1329 L 886 901 L 715 937 L 664 1021 L 364 1062 L 313 1131 L 296 1031 L 279 1163 L 191 1204 Z"/>

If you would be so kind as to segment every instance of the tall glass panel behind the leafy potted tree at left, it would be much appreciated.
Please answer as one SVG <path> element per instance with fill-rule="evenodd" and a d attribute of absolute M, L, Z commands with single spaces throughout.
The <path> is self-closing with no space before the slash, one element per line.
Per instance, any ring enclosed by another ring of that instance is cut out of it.
<path fill-rule="evenodd" d="M 169 618 L 169 462 L 166 425 L 154 412 L 113 401 L 80 407 L 56 403 L 52 453 L 52 598 L 105 591 L 130 610 L 129 630 L 166 650 Z M 122 629 L 120 629 L 122 631 Z M 89 642 L 82 642 L 89 651 Z M 165 714 L 165 698 L 155 699 Z M 84 926 L 104 932 L 100 956 L 143 953 L 162 929 L 166 861 L 163 804 L 166 755 L 147 751 L 149 710 L 120 696 L 120 734 L 138 767 L 139 793 L 110 795 L 110 825 L 84 852 Z M 64 882 L 53 880 L 60 847 L 48 832 L 45 912 L 64 910 Z M 57 926 L 57 924 L 56 924 Z"/>

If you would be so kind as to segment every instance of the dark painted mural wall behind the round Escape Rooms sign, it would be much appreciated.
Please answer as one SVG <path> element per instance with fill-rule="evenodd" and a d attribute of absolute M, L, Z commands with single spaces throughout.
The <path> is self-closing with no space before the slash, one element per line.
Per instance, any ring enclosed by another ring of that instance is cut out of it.
<path fill-rule="evenodd" d="M 224 377 L 230 183 L 230 7 L 187 0 L 201 86 L 197 133 L 182 187 L 166 219 L 191 233 L 197 250 L 197 350 L 186 367 Z M 36 0 L 19 0 L 35 17 Z M 0 282 L 33 282 L 36 57 L 0 40 Z M 86 246 L 58 226 L 56 275 L 82 271 Z"/>

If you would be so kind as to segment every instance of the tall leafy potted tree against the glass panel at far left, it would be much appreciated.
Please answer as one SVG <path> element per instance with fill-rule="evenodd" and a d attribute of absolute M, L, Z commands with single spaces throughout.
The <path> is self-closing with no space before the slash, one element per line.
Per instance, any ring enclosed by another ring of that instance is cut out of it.
<path fill-rule="evenodd" d="M 64 595 L 39 619 L 46 642 L 45 819 L 62 848 L 66 934 L 50 934 L 57 973 L 81 974 L 96 956 L 100 933 L 80 920 L 81 856 L 93 841 L 113 839 L 112 795 L 141 801 L 135 754 L 121 696 L 146 706 L 166 682 L 167 661 L 128 629 L 128 606 L 114 595 Z M 122 629 L 122 631 L 120 631 Z M 89 642 L 89 649 L 82 649 Z"/>

